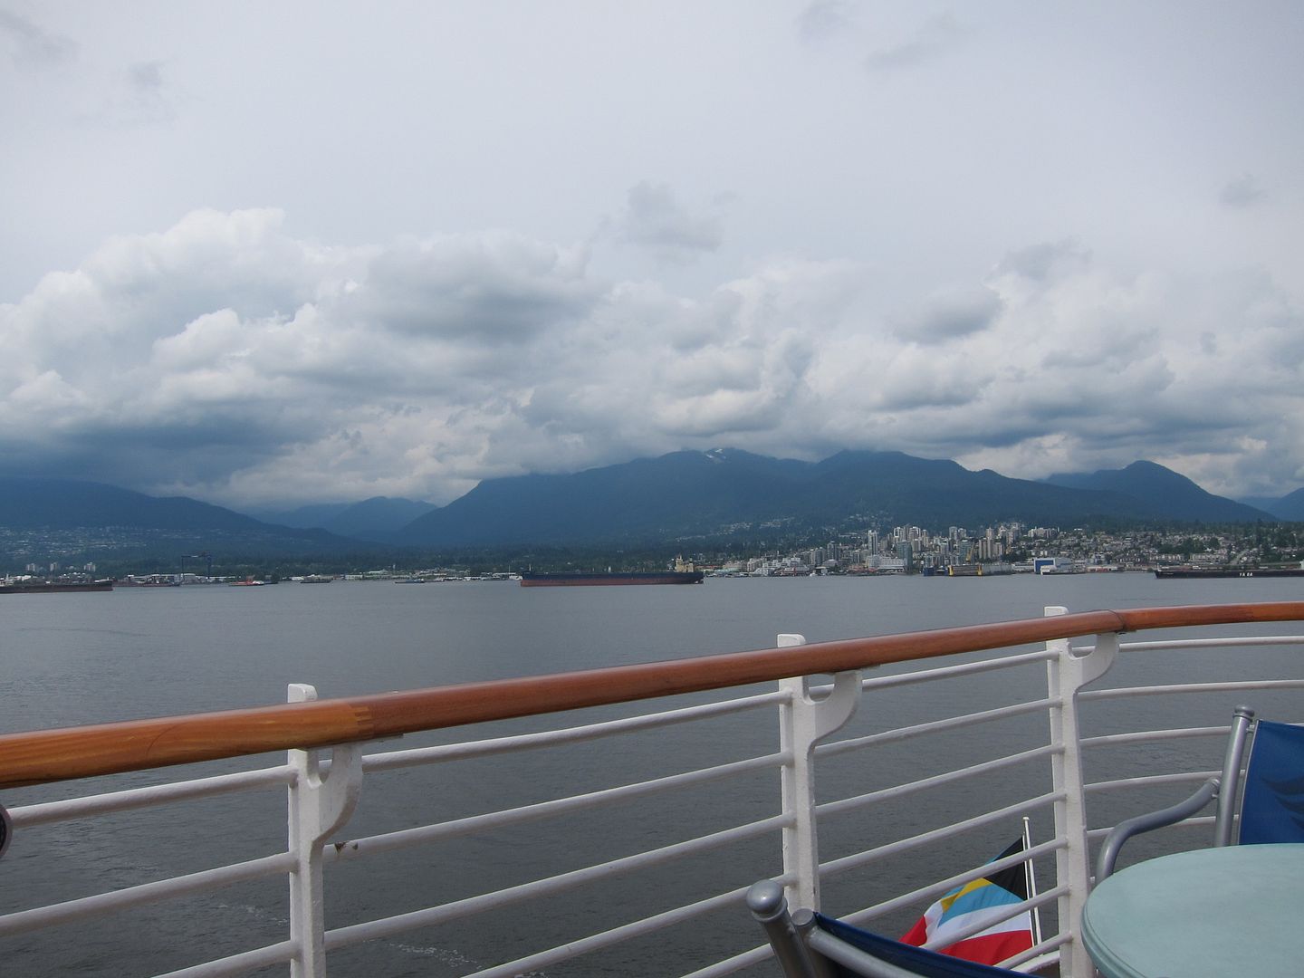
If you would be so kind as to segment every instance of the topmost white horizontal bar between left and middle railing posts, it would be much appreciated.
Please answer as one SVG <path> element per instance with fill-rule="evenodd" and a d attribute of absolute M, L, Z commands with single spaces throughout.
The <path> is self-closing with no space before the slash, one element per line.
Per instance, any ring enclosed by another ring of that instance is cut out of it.
<path fill-rule="evenodd" d="M 786 703 L 792 694 L 786 691 L 764 692 L 758 696 L 743 696 L 721 703 L 704 703 L 683 709 L 668 709 L 662 713 L 644 713 L 621 720 L 605 720 L 600 724 L 569 726 L 562 730 L 540 730 L 539 733 L 494 737 L 486 741 L 467 741 L 464 743 L 445 743 L 436 747 L 413 747 L 404 751 L 369 754 L 363 758 L 363 771 L 390 771 L 391 768 L 413 767 L 417 764 L 441 764 L 452 760 L 468 760 L 496 754 L 507 754 L 540 747 L 557 747 L 563 743 L 593 741 L 600 737 L 649 730 L 672 724 L 685 724 L 694 720 L 709 720 L 717 716 L 741 713 L 746 709 Z"/>

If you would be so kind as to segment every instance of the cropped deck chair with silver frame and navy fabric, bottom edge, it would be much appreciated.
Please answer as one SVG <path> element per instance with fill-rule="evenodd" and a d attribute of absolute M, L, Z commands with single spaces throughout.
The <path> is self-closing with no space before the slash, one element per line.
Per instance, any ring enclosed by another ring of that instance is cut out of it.
<path fill-rule="evenodd" d="M 810 910 L 788 913 L 784 888 L 754 883 L 747 909 L 765 930 L 788 978 L 1026 978 L 882 938 Z"/>

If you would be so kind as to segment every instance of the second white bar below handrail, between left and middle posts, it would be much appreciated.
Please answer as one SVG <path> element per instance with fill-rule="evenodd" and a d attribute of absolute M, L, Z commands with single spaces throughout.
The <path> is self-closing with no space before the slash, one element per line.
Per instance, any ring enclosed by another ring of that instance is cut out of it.
<path fill-rule="evenodd" d="M 505 808 L 502 811 L 485 812 L 482 815 L 469 815 L 464 819 L 441 822 L 436 825 L 420 825 L 417 828 L 404 828 L 396 832 L 368 836 L 365 838 L 351 838 L 347 842 L 326 846 L 323 861 L 336 862 L 339 859 L 373 855 L 376 853 L 386 853 L 394 849 L 420 845 L 422 842 L 455 838 L 480 829 L 516 825 L 523 822 L 565 815 L 571 811 L 592 808 L 599 805 L 609 805 L 612 802 L 625 801 L 629 798 L 642 798 L 643 795 L 655 794 L 673 788 L 705 784 L 751 771 L 776 768 L 780 764 L 789 763 L 792 754 L 786 751 L 769 754 L 762 758 L 735 760 L 730 764 L 717 764 L 716 767 L 702 768 L 699 771 L 668 775 L 666 777 L 655 778 L 652 781 L 639 781 L 631 785 L 619 785 L 618 788 L 604 788 L 597 792 L 589 792 L 588 794 L 575 794 L 569 798 L 554 798 L 552 801 L 537 802 L 535 805 L 522 805 L 516 808 Z"/>

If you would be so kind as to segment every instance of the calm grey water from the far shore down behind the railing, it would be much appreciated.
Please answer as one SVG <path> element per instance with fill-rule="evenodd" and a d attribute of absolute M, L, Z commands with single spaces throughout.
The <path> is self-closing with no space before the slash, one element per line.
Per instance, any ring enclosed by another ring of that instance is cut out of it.
<path fill-rule="evenodd" d="M 703 587 L 519 588 L 510 583 L 395 585 L 346 583 L 280 584 L 265 588 L 189 587 L 120 589 L 96 595 L 25 595 L 0 599 L 0 677 L 4 683 L 0 732 L 63 726 L 223 709 L 279 702 L 289 682 L 317 685 L 322 696 L 490 679 L 678 659 L 771 647 L 778 632 L 797 631 L 816 642 L 861 635 L 935 629 L 951 625 L 1038 617 L 1045 605 L 1069 610 L 1168 604 L 1295 600 L 1300 580 L 1157 582 L 1149 575 L 1064 578 L 987 578 L 936 580 L 756 579 L 712 580 Z M 1267 626 L 1265 634 L 1288 631 Z M 1248 665 L 1247 668 L 1251 668 Z M 1218 655 L 1149 657 L 1132 677 L 1118 682 L 1183 681 L 1222 669 Z M 1304 674 L 1297 655 L 1277 653 L 1258 674 Z M 1108 677 L 1114 682 L 1114 674 Z M 862 705 L 853 726 L 871 730 L 966 704 L 1038 696 L 1039 675 L 987 678 L 962 689 L 930 689 Z M 1021 689 L 1020 685 L 1024 685 Z M 1127 704 L 1101 712 L 1101 722 L 1120 712 L 1154 711 L 1154 725 L 1187 716 L 1176 707 Z M 1226 722 L 1226 698 L 1200 705 L 1191 722 Z M 1166 713 L 1164 711 L 1170 711 Z M 591 711 L 608 716 L 618 711 Z M 1149 720 L 1132 724 L 1148 726 Z M 1185 721 L 1178 725 L 1185 725 Z M 518 721 L 502 729 L 536 729 Z M 945 746 L 911 746 L 863 762 L 837 762 L 822 769 L 822 789 L 859 792 L 892 784 L 904 772 L 962 762 L 975 750 L 990 755 L 1028 738 L 1045 741 L 1045 721 L 970 735 Z M 395 747 L 456 739 L 459 734 L 404 738 Z M 565 751 L 476 762 L 438 769 L 376 776 L 364 786 L 352 835 L 421 824 L 506 803 L 592 790 L 615 782 L 655 777 L 685 767 L 737 759 L 773 750 L 772 717 L 720 721 L 709 729 L 675 728 L 636 742 L 608 739 Z M 1153 754 L 1153 751 L 1151 751 Z M 1180 751 L 1175 751 L 1175 759 Z M 978 755 L 975 755 L 978 756 Z M 237 762 L 231 769 L 254 767 Z M 1210 762 L 1210 765 L 1213 763 Z M 612 771 L 618 771 L 612 780 Z M 205 769 L 211 773 L 211 767 Z M 164 780 L 159 772 L 120 778 L 123 784 Z M 374 784 L 378 782 L 378 784 Z M 1021 797 L 1037 777 L 991 786 Z M 868 785 L 868 788 L 866 788 Z M 68 786 L 10 792 L 9 806 L 77 793 Z M 340 925 L 396 913 L 434 900 L 471 896 L 510 885 L 535 872 L 559 872 L 618 858 L 645 845 L 741 824 L 775 810 L 773 777 L 743 778 L 702 789 L 690 803 L 687 829 L 666 836 L 662 815 L 672 799 L 612 806 L 566 824 L 541 823 L 524 831 L 490 833 L 395 858 L 369 861 L 365 871 L 340 865 L 329 872 L 327 922 Z M 985 799 L 986 799 L 985 789 Z M 829 797 L 837 797 L 831 790 Z M 679 799 L 674 799 L 679 802 Z M 962 799 L 961 799 L 962 801 Z M 682 803 L 682 802 L 679 802 Z M 822 854 L 842 845 L 863 848 L 943 819 L 947 799 L 921 807 L 875 814 L 872 827 L 831 825 Z M 994 806 L 986 806 L 994 807 Z M 0 862 L 0 911 L 40 900 L 68 898 L 110 885 L 190 871 L 274 852 L 283 845 L 283 798 L 241 797 L 216 803 L 177 806 L 166 812 L 115 816 L 86 824 L 33 829 L 16 840 Z M 682 824 L 682 815 L 675 815 Z M 853 820 L 854 822 L 854 820 Z M 583 840 L 583 845 L 576 844 Z M 822 844 L 824 840 L 822 838 Z M 985 837 L 992 853 L 1003 842 Z M 853 849 L 848 849 L 852 852 Z M 745 846 L 720 863 L 694 859 L 673 871 L 648 874 L 635 884 L 592 888 L 576 902 L 557 900 L 520 913 L 503 913 L 449 928 L 420 931 L 408 939 L 378 941 L 333 956 L 335 974 L 452 975 L 503 960 L 505 955 L 546 947 L 627 919 L 665 909 L 681 898 L 699 898 L 743 885 L 776 868 L 773 842 Z M 945 875 L 939 871 L 938 875 Z M 850 885 L 850 884 L 848 884 Z M 861 892 L 901 889 L 896 880 L 858 880 Z M 825 901 L 841 898 L 831 887 Z M 855 900 L 859 895 L 846 895 Z M 862 898 L 855 905 L 870 902 Z M 271 943 L 283 936 L 283 884 L 232 887 L 219 897 L 151 909 L 74 934 L 51 930 L 0 940 L 5 975 L 143 974 L 197 960 L 188 945 L 203 938 L 203 953 Z M 725 949 L 750 947 L 729 931 Z M 908 922 L 906 922 L 908 923 Z M 746 930 L 745 922 L 741 930 Z M 548 935 L 548 936 L 540 936 Z M 520 943 L 518 948 L 516 944 Z M 709 941 L 707 941 L 709 943 Z M 635 945 L 585 958 L 549 974 L 662 974 L 700 966 L 691 949 L 670 940 Z M 691 944 L 691 941 L 690 941 Z M 655 952 L 648 948 L 653 947 Z M 653 957 L 648 957 L 652 953 Z M 647 962 L 659 964 L 649 966 Z M 705 960 L 709 960 L 705 958 Z"/>

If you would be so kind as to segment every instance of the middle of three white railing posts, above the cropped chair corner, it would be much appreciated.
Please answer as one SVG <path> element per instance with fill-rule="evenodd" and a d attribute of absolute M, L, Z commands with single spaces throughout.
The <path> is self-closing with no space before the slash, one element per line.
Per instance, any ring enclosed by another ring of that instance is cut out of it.
<path fill-rule="evenodd" d="M 778 647 L 805 645 L 802 635 L 780 635 Z M 782 767 L 784 872 L 795 879 L 788 887 L 793 906 L 819 909 L 819 831 L 815 824 L 815 745 L 850 720 L 861 699 L 861 674 L 837 673 L 833 690 L 812 700 L 807 677 L 780 679 L 789 694 L 778 708 L 778 748 L 790 760 Z"/>

